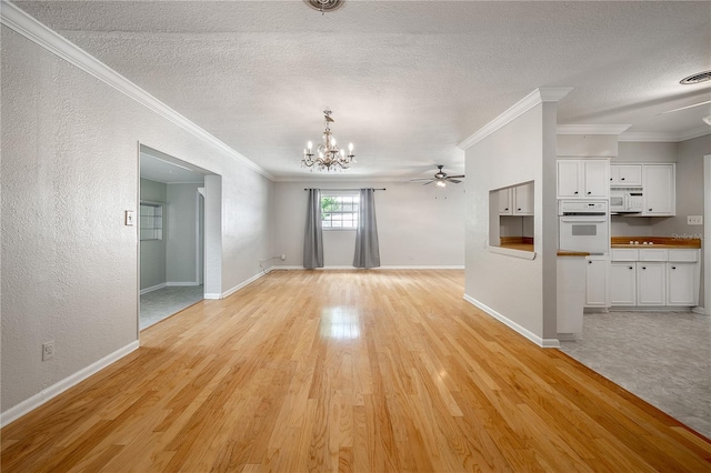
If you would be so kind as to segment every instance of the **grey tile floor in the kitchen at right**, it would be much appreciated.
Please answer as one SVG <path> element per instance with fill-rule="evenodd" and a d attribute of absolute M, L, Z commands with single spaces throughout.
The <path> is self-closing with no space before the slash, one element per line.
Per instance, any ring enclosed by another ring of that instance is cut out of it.
<path fill-rule="evenodd" d="M 711 316 L 587 313 L 582 339 L 561 351 L 711 437 Z"/>

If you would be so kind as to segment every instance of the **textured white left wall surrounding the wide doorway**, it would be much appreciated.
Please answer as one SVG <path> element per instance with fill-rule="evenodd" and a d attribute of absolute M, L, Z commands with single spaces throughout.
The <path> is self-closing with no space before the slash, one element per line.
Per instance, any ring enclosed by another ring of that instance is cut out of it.
<path fill-rule="evenodd" d="M 273 184 L 4 24 L 1 41 L 7 413 L 138 340 L 138 232 L 123 212 L 139 208 L 139 142 L 222 177 L 222 292 L 273 252 Z"/>

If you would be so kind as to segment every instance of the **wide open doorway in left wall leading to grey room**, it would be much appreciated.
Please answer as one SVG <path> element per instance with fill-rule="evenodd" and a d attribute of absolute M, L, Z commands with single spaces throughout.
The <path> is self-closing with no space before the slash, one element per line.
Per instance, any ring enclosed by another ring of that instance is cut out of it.
<path fill-rule="evenodd" d="M 213 299 L 216 288 L 219 294 L 207 255 L 221 250 L 207 242 L 219 242 L 212 233 L 219 232 L 213 215 L 216 208 L 221 214 L 221 177 L 142 144 L 139 168 L 141 331 L 206 296 Z"/>

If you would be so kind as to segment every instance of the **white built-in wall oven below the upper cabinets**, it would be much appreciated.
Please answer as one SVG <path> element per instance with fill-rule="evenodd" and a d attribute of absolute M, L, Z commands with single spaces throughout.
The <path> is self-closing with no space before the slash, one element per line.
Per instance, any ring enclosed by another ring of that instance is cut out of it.
<path fill-rule="evenodd" d="M 610 217 L 607 201 L 558 201 L 559 248 L 607 254 L 610 249 Z"/>

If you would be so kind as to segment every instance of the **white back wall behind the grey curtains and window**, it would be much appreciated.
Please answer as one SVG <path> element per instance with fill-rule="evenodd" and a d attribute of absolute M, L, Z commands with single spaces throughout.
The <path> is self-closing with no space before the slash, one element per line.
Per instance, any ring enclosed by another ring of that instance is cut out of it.
<path fill-rule="evenodd" d="M 467 178 L 468 179 L 468 178 Z M 304 188 L 385 188 L 375 192 L 375 215 L 382 266 L 463 266 L 464 184 L 445 189 L 412 182 L 318 181 L 274 184 L 276 255 L 279 265 L 303 264 L 307 212 Z M 352 266 L 354 231 L 324 231 L 328 266 Z"/>

